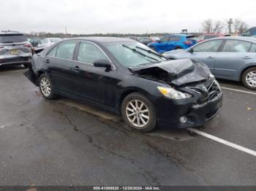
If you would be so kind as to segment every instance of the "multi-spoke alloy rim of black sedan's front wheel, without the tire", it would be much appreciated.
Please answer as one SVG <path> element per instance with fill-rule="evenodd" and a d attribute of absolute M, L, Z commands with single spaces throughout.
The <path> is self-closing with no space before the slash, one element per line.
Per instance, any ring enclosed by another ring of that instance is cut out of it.
<path fill-rule="evenodd" d="M 129 122 L 136 128 L 144 128 L 150 120 L 148 107 L 143 101 L 137 99 L 129 101 L 126 106 L 126 114 Z"/>

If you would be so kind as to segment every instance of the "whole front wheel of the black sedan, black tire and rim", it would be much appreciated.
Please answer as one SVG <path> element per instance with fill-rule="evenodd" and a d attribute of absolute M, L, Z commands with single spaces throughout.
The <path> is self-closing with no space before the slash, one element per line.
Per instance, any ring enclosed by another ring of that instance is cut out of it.
<path fill-rule="evenodd" d="M 157 127 L 154 104 L 141 93 L 131 93 L 124 98 L 121 104 L 121 114 L 124 122 L 132 130 L 148 133 Z"/>

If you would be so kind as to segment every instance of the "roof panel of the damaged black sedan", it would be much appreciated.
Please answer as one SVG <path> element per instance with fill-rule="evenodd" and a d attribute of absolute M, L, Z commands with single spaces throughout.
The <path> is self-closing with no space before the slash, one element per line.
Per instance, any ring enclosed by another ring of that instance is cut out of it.
<path fill-rule="evenodd" d="M 67 40 L 67 39 L 65 39 Z M 135 42 L 132 39 L 124 39 L 124 38 L 116 38 L 116 37 L 105 37 L 105 36 L 90 36 L 90 37 L 78 37 L 72 38 L 69 40 L 86 40 L 90 42 L 98 42 L 98 43 L 109 43 L 109 42 Z"/>

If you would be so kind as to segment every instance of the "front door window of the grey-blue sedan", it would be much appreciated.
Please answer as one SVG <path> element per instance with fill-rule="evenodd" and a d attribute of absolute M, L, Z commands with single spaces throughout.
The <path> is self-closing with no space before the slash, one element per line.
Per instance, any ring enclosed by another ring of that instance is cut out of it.
<path fill-rule="evenodd" d="M 217 52 L 222 40 L 212 40 L 198 44 L 193 48 L 195 52 Z"/>

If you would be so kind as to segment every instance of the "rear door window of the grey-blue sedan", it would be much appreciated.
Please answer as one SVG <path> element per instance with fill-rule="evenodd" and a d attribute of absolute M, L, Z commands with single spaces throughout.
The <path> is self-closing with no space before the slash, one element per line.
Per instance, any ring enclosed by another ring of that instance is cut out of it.
<path fill-rule="evenodd" d="M 248 52 L 251 44 L 240 40 L 227 40 L 222 52 Z"/>

